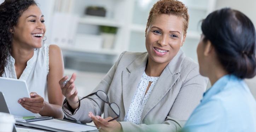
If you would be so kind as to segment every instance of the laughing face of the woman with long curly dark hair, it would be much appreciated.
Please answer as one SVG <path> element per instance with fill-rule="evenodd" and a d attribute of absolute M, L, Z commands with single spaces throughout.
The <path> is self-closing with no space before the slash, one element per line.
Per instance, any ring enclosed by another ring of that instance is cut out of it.
<path fill-rule="evenodd" d="M 12 42 L 24 48 L 41 48 L 46 31 L 44 21 L 40 8 L 29 6 L 19 17 L 17 25 L 13 26 Z"/>

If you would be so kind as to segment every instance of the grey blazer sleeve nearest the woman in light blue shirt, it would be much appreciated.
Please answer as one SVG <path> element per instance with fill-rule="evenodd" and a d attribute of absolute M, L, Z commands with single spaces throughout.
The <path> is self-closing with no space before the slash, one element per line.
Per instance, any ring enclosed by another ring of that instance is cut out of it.
<path fill-rule="evenodd" d="M 205 92 L 208 79 L 201 76 L 195 67 L 187 74 L 180 92 L 162 124 L 133 124 L 120 122 L 124 132 L 176 132 L 184 126 Z M 164 115 L 163 115 L 164 116 Z"/>

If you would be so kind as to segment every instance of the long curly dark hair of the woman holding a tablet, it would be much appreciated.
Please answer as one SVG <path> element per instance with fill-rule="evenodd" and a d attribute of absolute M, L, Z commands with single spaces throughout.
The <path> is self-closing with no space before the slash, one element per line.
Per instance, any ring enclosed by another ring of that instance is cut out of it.
<path fill-rule="evenodd" d="M 11 54 L 13 26 L 17 25 L 19 17 L 31 5 L 37 5 L 34 0 L 5 0 L 0 5 L 0 76 L 7 65 L 7 57 Z"/>

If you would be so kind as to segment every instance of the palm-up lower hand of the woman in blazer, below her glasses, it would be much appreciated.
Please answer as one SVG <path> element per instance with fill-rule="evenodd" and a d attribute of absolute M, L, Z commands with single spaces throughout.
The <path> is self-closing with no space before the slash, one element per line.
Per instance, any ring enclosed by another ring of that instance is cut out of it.
<path fill-rule="evenodd" d="M 92 112 L 89 112 L 88 115 L 92 121 L 94 122 L 97 128 L 100 127 L 99 132 L 121 132 L 122 126 L 116 120 L 108 122 L 108 120 L 112 119 L 112 117 L 107 117 L 105 119 L 101 118 L 100 116 L 94 116 Z"/>

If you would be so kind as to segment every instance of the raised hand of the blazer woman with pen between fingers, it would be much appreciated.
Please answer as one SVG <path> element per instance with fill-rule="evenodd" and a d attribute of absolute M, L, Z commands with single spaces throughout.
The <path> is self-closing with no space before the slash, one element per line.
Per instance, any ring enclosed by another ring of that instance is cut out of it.
<path fill-rule="evenodd" d="M 66 97 L 66 100 L 68 101 L 72 109 L 76 109 L 79 107 L 79 102 L 77 102 L 79 100 L 77 96 L 78 92 L 76 90 L 75 83 L 74 83 L 74 81 L 76 80 L 76 74 L 73 73 L 70 80 L 66 84 L 63 84 L 63 82 L 66 80 L 68 80 L 68 76 L 64 76 L 59 81 L 62 94 Z"/>

